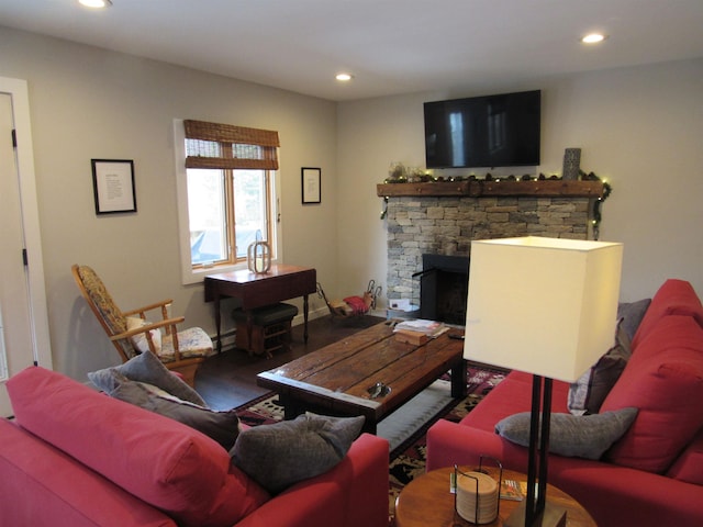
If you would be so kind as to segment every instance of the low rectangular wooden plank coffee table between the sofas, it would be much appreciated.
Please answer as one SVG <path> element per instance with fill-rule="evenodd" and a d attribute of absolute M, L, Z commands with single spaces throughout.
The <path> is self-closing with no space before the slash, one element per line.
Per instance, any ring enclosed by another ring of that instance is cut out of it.
<path fill-rule="evenodd" d="M 378 422 L 448 370 L 451 396 L 466 396 L 464 341 L 448 335 L 415 346 L 395 339 L 389 325 L 378 324 L 264 371 L 257 384 L 278 393 L 287 419 L 306 411 L 364 415 L 364 429 L 376 434 Z"/>

